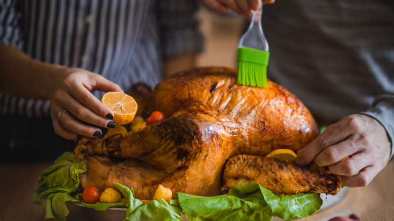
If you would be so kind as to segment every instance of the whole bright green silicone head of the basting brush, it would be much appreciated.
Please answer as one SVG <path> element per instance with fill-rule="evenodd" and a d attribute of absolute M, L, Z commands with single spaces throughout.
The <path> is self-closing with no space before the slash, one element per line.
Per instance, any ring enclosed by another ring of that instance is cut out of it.
<path fill-rule="evenodd" d="M 238 47 L 238 84 L 268 87 L 267 66 L 270 52 Z"/>

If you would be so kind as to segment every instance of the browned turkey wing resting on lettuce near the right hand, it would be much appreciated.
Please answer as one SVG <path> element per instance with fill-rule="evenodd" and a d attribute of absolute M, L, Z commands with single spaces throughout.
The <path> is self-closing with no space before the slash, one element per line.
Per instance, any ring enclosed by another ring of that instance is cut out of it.
<path fill-rule="evenodd" d="M 259 183 L 281 194 L 327 193 L 335 195 L 341 184 L 334 175 L 312 172 L 285 161 L 239 154 L 228 159 L 223 174 L 224 188 L 241 183 Z"/>

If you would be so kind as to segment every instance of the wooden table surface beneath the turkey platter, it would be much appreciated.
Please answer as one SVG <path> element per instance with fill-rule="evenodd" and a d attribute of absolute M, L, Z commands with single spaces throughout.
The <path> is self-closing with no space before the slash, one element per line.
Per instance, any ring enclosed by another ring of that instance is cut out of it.
<path fill-rule="evenodd" d="M 0 164 L 0 220 L 43 220 L 45 211 L 32 202 L 32 194 L 41 172 L 51 163 Z M 67 220 L 122 220 L 111 214 L 74 206 Z M 326 221 L 334 216 L 357 214 L 362 221 L 394 220 L 394 164 L 391 160 L 366 187 L 349 188 L 338 204 L 302 219 Z M 301 220 L 301 219 L 297 219 Z"/>

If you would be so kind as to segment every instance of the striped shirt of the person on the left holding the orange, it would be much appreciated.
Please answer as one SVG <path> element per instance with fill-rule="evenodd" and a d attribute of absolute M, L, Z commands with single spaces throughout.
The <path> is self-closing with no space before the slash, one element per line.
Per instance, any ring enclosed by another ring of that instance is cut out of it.
<path fill-rule="evenodd" d="M 0 0 L 0 43 L 101 74 L 123 90 L 136 82 L 154 86 L 163 57 L 202 50 L 197 9 L 192 0 Z M 49 108 L 47 100 L 0 88 L 0 115 L 48 117 Z"/>

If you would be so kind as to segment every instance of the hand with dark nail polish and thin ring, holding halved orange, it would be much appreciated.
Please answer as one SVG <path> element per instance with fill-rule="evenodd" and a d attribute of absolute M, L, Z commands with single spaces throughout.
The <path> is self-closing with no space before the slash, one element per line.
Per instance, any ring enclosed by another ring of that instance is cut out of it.
<path fill-rule="evenodd" d="M 55 133 L 66 139 L 75 139 L 78 135 L 102 136 L 100 129 L 81 121 L 104 128 L 115 127 L 111 121 L 113 112 L 91 94 L 94 90 L 122 91 L 117 84 L 103 76 L 82 69 L 63 68 L 56 74 L 50 97 Z"/>

